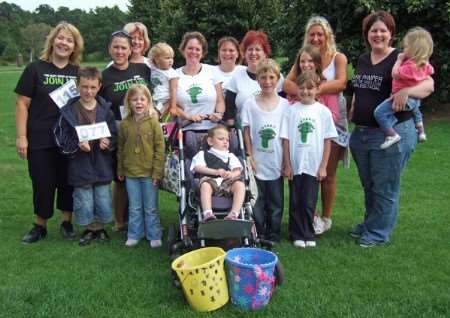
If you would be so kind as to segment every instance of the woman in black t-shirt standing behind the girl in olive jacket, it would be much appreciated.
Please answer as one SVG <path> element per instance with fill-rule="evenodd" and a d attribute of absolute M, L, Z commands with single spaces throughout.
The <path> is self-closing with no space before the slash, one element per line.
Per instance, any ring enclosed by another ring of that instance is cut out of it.
<path fill-rule="evenodd" d="M 117 122 L 122 120 L 124 97 L 128 88 L 133 84 L 144 84 L 150 87 L 150 68 L 143 63 L 130 63 L 131 36 L 125 31 L 116 31 L 111 34 L 109 54 L 113 60 L 112 65 L 102 72 L 103 83 L 99 95 L 112 103 L 112 111 Z M 116 156 L 114 156 L 116 158 Z M 115 161 L 114 171 L 117 169 Z M 127 192 L 125 184 L 119 182 L 117 176 L 113 186 L 114 229 L 125 229 L 127 212 Z"/>

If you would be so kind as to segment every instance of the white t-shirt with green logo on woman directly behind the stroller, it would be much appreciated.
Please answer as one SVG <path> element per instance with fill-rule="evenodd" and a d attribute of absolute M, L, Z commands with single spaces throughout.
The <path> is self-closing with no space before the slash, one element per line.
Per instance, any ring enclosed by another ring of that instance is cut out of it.
<path fill-rule="evenodd" d="M 177 104 L 190 115 L 209 115 L 215 112 L 217 92 L 215 85 L 220 83 L 216 78 L 213 67 L 202 64 L 200 72 L 194 76 L 183 73 L 183 68 L 177 70 L 179 75 L 177 87 Z M 209 129 L 216 123 L 203 121 L 193 123 L 187 127 L 192 130 Z"/>

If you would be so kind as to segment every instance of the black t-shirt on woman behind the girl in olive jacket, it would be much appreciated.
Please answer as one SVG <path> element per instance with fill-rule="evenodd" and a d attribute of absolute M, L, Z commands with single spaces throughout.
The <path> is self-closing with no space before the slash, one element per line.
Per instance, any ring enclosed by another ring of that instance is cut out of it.
<path fill-rule="evenodd" d="M 142 63 L 130 63 L 126 70 L 111 65 L 102 72 L 103 83 L 99 95 L 112 103 L 116 120 L 122 120 L 120 106 L 124 105 L 125 94 L 133 84 L 143 84 L 150 89 L 150 68 Z"/>

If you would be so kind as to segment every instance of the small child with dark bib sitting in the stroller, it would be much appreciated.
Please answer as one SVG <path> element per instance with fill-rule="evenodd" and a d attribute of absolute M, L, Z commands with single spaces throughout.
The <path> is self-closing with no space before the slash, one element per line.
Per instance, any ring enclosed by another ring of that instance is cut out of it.
<path fill-rule="evenodd" d="M 232 196 L 232 206 L 225 216 L 226 220 L 239 217 L 245 199 L 245 184 L 242 180 L 243 166 L 239 159 L 229 151 L 228 129 L 217 125 L 208 130 L 206 139 L 209 149 L 200 150 L 192 159 L 190 170 L 200 179 L 200 203 L 203 221 L 216 219 L 212 210 L 212 196 Z"/>

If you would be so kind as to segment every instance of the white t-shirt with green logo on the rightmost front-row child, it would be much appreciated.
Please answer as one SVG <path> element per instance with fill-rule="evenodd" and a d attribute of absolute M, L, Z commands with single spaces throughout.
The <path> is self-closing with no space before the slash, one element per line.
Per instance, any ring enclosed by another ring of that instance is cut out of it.
<path fill-rule="evenodd" d="M 316 176 L 323 157 L 325 139 L 337 137 L 330 110 L 318 102 L 289 106 L 281 123 L 281 138 L 289 139 L 294 175 Z"/>

